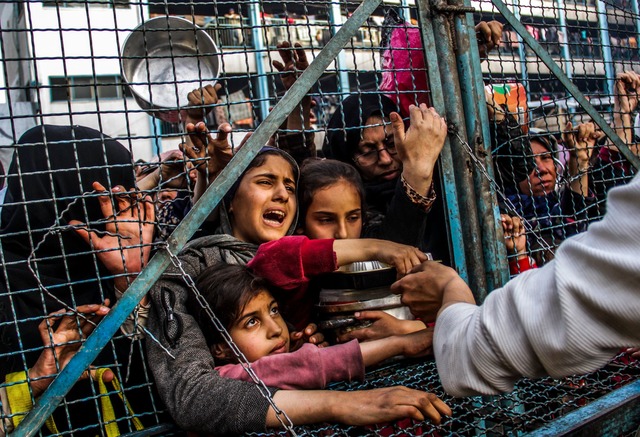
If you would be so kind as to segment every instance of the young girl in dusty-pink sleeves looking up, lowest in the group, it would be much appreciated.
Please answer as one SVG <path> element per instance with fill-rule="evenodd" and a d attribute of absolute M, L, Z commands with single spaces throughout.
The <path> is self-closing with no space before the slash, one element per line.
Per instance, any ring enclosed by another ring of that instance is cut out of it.
<path fill-rule="evenodd" d="M 281 293 L 246 266 L 209 267 L 197 278 L 196 286 L 237 348 L 251 362 L 253 371 L 271 387 L 311 390 L 334 381 L 363 380 L 365 366 L 400 354 L 424 355 L 431 349 L 431 335 L 421 331 L 362 344 L 353 340 L 326 348 L 305 343 L 290 352 L 289 330 L 275 297 Z M 220 375 L 251 381 L 195 297 L 190 298 L 189 309 L 205 336 Z M 439 399 L 433 399 L 432 403 L 440 413 L 449 414 L 448 407 Z M 429 417 L 440 419 L 435 410 Z"/>

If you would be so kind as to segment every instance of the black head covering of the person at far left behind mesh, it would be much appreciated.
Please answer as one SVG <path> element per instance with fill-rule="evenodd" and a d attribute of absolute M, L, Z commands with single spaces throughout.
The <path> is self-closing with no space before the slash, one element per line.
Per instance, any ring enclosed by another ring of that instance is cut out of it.
<path fill-rule="evenodd" d="M 90 195 L 94 181 L 107 188 L 134 186 L 131 155 L 119 142 L 87 127 L 48 125 L 30 129 L 18 141 L 7 176 L 0 228 L 4 264 L 0 273 L 0 355 L 42 346 L 37 326 L 42 317 L 63 307 L 58 299 L 69 307 L 100 303 L 105 298 L 115 302 L 112 281 L 101 279 L 108 272 L 75 231 L 66 229 L 73 219 L 83 223 L 103 219 L 96 196 Z M 91 227 L 101 229 L 99 224 Z M 56 232 L 47 234 L 50 230 Z M 34 249 L 37 261 L 31 266 L 57 299 L 38 289 L 27 268 Z M 16 329 L 13 311 L 18 322 L 31 320 L 18 323 Z M 4 365 L 5 359 L 0 359 L 2 374 L 15 370 Z M 27 364 L 33 362 L 27 360 Z"/>

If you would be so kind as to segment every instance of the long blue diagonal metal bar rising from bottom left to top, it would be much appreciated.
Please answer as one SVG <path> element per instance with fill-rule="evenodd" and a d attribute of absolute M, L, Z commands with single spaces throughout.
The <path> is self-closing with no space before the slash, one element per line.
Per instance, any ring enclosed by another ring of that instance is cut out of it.
<path fill-rule="evenodd" d="M 240 177 L 263 145 L 267 143 L 269 137 L 285 121 L 288 114 L 299 104 L 311 86 L 320 79 L 320 76 L 336 55 L 355 35 L 381 1 L 364 0 L 336 35 L 320 51 L 309 68 L 300 75 L 296 83 L 258 126 L 244 147 L 233 157 L 216 182 L 207 189 L 187 217 L 171 234 L 167 244 L 172 253 L 178 253 L 184 247 L 189 238 L 209 216 L 213 208 L 218 205 L 227 190 Z M 37 400 L 33 410 L 29 412 L 12 435 L 32 436 L 40 430 L 46 419 L 53 413 L 63 397 L 82 375 L 82 372 L 89 367 L 98 353 L 122 325 L 127 315 L 134 310 L 140 299 L 155 284 L 170 263 L 171 259 L 167 251 L 156 253 L 149 265 L 140 273 L 122 298 L 89 336 L 76 356 Z"/>

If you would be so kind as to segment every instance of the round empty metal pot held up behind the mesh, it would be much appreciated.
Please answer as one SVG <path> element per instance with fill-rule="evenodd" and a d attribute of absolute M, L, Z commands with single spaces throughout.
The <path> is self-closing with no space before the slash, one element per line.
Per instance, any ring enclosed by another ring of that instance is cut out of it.
<path fill-rule="evenodd" d="M 211 36 L 191 21 L 163 16 L 129 34 L 121 64 L 138 105 L 154 117 L 178 123 L 189 103 L 187 94 L 218 78 L 220 52 Z"/>

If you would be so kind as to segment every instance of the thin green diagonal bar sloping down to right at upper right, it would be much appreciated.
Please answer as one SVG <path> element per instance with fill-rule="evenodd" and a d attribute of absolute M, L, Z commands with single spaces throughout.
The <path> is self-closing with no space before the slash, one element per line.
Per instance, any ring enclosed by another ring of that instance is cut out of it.
<path fill-rule="evenodd" d="M 562 85 L 569 91 L 569 93 L 573 96 L 574 99 L 578 102 L 578 104 L 586 111 L 589 116 L 593 119 L 593 121 L 600 126 L 600 129 L 605 133 L 607 137 L 613 144 L 620 150 L 620 153 L 627 158 L 627 160 L 633 165 L 636 169 L 640 169 L 640 158 L 633 154 L 633 152 L 629 149 L 629 147 L 622 141 L 622 139 L 615 133 L 615 131 L 607 124 L 607 121 L 600 115 L 600 113 L 593 107 L 591 103 L 584 97 L 584 95 L 578 90 L 578 88 L 571 82 L 571 79 L 567 77 L 567 75 L 562 71 L 562 69 L 554 62 L 549 53 L 545 49 L 542 48 L 540 43 L 536 41 L 533 36 L 527 32 L 524 25 L 516 19 L 516 17 L 511 13 L 509 8 L 504 4 L 502 0 L 491 0 L 493 5 L 500 11 L 502 16 L 507 20 L 507 22 L 513 27 L 513 29 L 518 32 L 518 34 L 522 37 L 522 39 L 531 47 L 531 49 L 535 52 L 536 55 L 540 58 L 542 62 L 549 68 L 549 71 L 553 75 L 555 75 L 558 80 L 562 83 Z M 604 42 L 603 42 L 604 44 Z"/>

